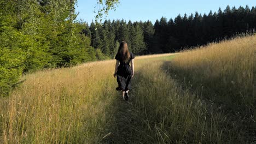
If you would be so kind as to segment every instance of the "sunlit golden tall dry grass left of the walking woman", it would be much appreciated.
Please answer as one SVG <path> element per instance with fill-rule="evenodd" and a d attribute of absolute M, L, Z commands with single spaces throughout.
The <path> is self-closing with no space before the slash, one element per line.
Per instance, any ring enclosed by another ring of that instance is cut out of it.
<path fill-rule="evenodd" d="M 142 58 L 136 69 L 147 62 Z M 0 143 L 102 141 L 113 101 L 120 98 L 114 64 L 91 62 L 22 77 L 26 81 L 0 101 Z"/>

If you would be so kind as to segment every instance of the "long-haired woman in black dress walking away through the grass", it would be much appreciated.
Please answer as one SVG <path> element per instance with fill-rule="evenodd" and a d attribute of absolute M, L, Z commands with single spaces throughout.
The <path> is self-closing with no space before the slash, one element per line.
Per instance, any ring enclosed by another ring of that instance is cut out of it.
<path fill-rule="evenodd" d="M 123 92 L 124 100 L 128 100 L 129 98 L 128 92 L 129 89 L 131 89 L 131 78 L 134 75 L 134 58 L 135 57 L 133 56 L 133 53 L 129 52 L 128 50 L 127 43 L 122 41 L 119 46 L 117 55 L 115 56 L 117 62 L 115 63 L 114 77 L 117 76 L 118 87 L 116 89 L 117 91 Z"/>

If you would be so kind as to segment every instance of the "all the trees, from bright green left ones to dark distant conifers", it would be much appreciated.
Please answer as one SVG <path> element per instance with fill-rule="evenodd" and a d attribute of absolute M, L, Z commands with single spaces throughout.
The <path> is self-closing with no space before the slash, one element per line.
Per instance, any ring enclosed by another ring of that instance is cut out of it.
<path fill-rule="evenodd" d="M 89 25 L 76 20 L 76 3 L 0 0 L 0 97 L 19 85 L 22 74 L 113 58 L 123 40 L 135 55 L 145 55 L 207 44 L 256 27 L 255 7 L 248 6 L 168 21 L 162 17 L 154 24 L 106 20 Z"/>

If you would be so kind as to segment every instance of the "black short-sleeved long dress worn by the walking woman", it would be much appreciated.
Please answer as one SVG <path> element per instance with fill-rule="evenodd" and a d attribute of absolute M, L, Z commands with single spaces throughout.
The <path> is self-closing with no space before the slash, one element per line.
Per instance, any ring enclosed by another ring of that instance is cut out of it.
<path fill-rule="evenodd" d="M 129 89 L 131 89 L 131 78 L 133 72 L 131 70 L 130 61 L 133 58 L 135 57 L 132 52 L 130 52 L 130 59 L 127 63 L 123 62 L 119 53 L 117 53 L 117 55 L 115 56 L 115 59 L 117 59 L 120 62 L 117 71 L 117 90 L 121 89 L 121 91 L 128 91 Z"/>

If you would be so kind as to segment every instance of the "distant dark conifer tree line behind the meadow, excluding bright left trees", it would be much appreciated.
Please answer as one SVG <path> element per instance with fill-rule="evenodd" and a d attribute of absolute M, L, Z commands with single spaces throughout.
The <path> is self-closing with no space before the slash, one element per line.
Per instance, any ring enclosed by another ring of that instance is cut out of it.
<path fill-rule="evenodd" d="M 91 37 L 91 46 L 113 57 L 119 41 L 125 40 L 135 55 L 176 52 L 188 47 L 205 45 L 213 41 L 229 39 L 239 33 L 254 32 L 256 9 L 229 5 L 224 11 L 208 14 L 185 14 L 167 20 L 161 17 L 154 25 L 151 21 L 126 22 L 106 20 L 100 25 L 86 24 L 85 35 Z"/>

